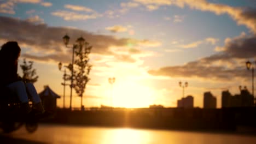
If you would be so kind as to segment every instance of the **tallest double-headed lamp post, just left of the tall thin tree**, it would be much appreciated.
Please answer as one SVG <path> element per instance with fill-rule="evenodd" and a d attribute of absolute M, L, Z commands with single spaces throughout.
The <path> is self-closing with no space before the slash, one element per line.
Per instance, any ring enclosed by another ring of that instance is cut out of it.
<path fill-rule="evenodd" d="M 82 47 L 84 45 L 84 41 L 85 39 L 83 37 L 80 37 L 77 39 L 77 41 L 75 41 L 76 43 L 73 44 L 73 46 L 68 46 L 69 43 L 69 36 L 66 34 L 64 35 L 63 39 L 63 43 L 65 44 L 66 47 L 68 48 L 72 48 L 72 64 L 71 64 L 71 85 L 70 85 L 70 104 L 69 104 L 69 109 L 72 110 L 72 89 L 73 89 L 73 77 L 74 77 L 74 50 L 80 46 Z"/>

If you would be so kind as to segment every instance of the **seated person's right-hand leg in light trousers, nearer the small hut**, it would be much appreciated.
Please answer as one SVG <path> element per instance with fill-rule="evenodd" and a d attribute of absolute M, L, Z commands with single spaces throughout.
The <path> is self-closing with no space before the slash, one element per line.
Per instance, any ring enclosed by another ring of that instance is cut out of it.
<path fill-rule="evenodd" d="M 33 83 L 30 83 L 30 82 L 26 83 L 26 89 L 27 89 L 27 93 L 31 96 L 34 109 L 39 112 L 44 112 L 41 99 L 37 94 L 37 90 L 34 87 Z"/>

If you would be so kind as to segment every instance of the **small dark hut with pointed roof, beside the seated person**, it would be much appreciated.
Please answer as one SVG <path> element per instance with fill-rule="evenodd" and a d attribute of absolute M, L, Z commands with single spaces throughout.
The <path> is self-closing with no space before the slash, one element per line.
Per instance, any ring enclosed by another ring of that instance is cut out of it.
<path fill-rule="evenodd" d="M 56 99 L 60 98 L 60 96 L 53 92 L 53 90 L 51 90 L 49 86 L 44 86 L 44 90 L 40 92 L 38 95 L 42 100 L 42 104 L 44 106 L 45 111 L 53 112 L 56 110 Z"/>

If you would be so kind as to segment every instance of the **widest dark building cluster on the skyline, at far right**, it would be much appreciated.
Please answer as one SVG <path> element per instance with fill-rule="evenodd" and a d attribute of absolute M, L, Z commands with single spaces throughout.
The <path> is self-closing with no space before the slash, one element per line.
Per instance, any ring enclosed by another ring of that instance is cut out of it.
<path fill-rule="evenodd" d="M 245 89 L 240 94 L 232 96 L 228 91 L 222 92 L 222 107 L 249 107 L 253 106 L 253 95 Z"/>

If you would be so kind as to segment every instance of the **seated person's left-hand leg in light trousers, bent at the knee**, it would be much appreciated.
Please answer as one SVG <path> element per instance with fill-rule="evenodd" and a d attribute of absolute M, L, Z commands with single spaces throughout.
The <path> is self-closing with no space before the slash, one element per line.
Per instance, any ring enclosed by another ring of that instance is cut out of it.
<path fill-rule="evenodd" d="M 26 92 L 26 87 L 23 81 L 16 81 L 7 85 L 9 91 L 18 96 L 21 101 L 21 110 L 25 113 L 31 111 L 30 105 L 28 104 L 28 97 Z"/>

